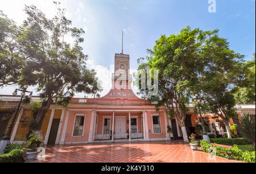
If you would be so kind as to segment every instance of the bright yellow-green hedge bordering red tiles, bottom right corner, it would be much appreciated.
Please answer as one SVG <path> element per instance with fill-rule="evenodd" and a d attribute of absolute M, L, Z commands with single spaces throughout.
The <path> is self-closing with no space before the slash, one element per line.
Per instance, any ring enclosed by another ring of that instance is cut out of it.
<path fill-rule="evenodd" d="M 213 146 L 213 145 L 209 144 L 206 140 L 201 140 L 200 144 L 201 144 L 202 151 L 207 152 L 207 153 L 210 152 L 209 151 L 210 147 L 214 147 L 214 148 L 216 148 L 216 150 L 220 150 L 220 151 L 229 150 L 229 148 Z M 226 154 L 225 152 L 220 152 L 220 151 L 216 151 L 217 156 L 228 158 L 228 154 Z M 247 163 L 255 163 L 255 151 L 243 152 L 242 150 L 240 150 L 238 148 L 238 146 L 236 144 L 234 144 L 234 146 L 232 146 L 231 151 L 232 151 L 232 158 L 234 160 L 241 160 L 241 161 L 245 161 Z"/>

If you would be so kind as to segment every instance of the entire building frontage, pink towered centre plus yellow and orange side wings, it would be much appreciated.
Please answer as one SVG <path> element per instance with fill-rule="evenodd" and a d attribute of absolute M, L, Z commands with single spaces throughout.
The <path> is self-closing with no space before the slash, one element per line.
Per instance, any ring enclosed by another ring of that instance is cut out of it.
<path fill-rule="evenodd" d="M 100 98 L 72 98 L 67 107 L 51 105 L 42 125 L 44 144 L 80 144 L 101 142 L 135 142 L 182 139 L 182 132 L 175 118 L 168 118 L 166 107 L 159 107 L 150 101 L 137 97 L 131 89 L 130 57 L 123 53 L 115 54 L 112 74 L 112 89 Z M 5 134 L 12 109 L 20 96 L 1 95 L 0 138 Z M 39 101 L 33 97 L 32 101 Z M 255 105 L 247 106 L 246 111 L 255 114 Z M 240 112 L 245 106 L 239 108 Z M 246 109 L 246 108 L 245 108 Z M 28 121 L 33 117 L 30 103 L 23 103 L 12 131 L 11 142 L 23 143 L 28 134 Z M 221 119 L 214 115 L 209 118 L 209 133 L 212 124 Z M 185 125 L 188 135 L 196 132 L 199 116 L 189 107 Z M 230 123 L 233 123 L 230 120 Z M 167 126 L 172 128 L 168 134 Z M 225 126 L 224 126 L 225 127 Z M 214 128 L 216 129 L 216 127 Z"/>

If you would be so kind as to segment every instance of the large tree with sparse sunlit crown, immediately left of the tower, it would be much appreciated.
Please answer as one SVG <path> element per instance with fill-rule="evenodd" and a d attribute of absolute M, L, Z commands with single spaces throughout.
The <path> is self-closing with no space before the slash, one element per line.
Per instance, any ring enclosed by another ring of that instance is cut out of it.
<path fill-rule="evenodd" d="M 80 46 L 84 31 L 73 27 L 65 18 L 65 9 L 54 3 L 57 14 L 52 19 L 33 5 L 26 6 L 27 19 L 17 39 L 22 53 L 28 56 L 19 84 L 35 86 L 46 98 L 36 115 L 38 130 L 53 102 L 67 104 L 76 92 L 95 94 L 100 90 L 96 72 L 86 67 L 87 56 Z M 68 43 L 69 36 L 72 40 Z"/>

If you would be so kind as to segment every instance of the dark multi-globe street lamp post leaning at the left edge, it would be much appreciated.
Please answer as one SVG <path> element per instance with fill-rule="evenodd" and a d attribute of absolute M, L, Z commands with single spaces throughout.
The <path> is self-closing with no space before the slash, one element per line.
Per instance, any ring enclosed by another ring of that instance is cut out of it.
<path fill-rule="evenodd" d="M 13 118 L 11 119 L 11 123 L 10 123 L 10 125 L 8 127 L 8 130 L 6 131 L 5 136 L 3 136 L 3 138 L 1 139 L 1 142 L 0 142 L 0 154 L 3 154 L 3 150 L 5 150 L 5 147 L 8 144 L 10 144 L 11 130 L 13 129 L 14 122 L 15 122 L 15 119 L 16 119 L 16 117 L 18 115 L 19 108 L 20 108 L 20 105 L 22 103 L 23 97 L 26 95 L 26 93 L 30 93 L 28 98 L 32 98 L 32 92 L 27 91 L 27 88 L 28 88 L 28 86 L 24 85 L 22 89 L 15 89 L 15 91 L 13 92 L 13 96 L 16 96 L 18 91 L 21 92 L 20 93 L 20 100 L 19 100 L 18 106 L 16 107 L 15 114 L 14 114 Z"/>

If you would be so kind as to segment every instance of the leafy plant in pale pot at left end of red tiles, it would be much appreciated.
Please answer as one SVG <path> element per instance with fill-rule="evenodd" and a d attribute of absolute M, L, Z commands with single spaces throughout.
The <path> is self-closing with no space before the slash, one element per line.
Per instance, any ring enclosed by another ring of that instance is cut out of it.
<path fill-rule="evenodd" d="M 33 132 L 30 137 L 28 138 L 27 142 L 27 161 L 35 160 L 38 156 L 38 147 L 40 147 L 40 144 L 42 143 L 42 139 L 38 138 L 38 136 L 35 135 Z"/>

